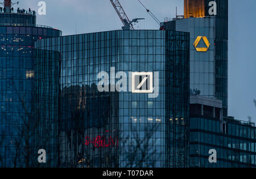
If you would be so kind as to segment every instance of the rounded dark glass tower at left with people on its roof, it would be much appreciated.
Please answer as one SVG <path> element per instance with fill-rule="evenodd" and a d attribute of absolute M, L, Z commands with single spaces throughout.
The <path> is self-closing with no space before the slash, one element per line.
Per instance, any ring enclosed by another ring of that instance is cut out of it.
<path fill-rule="evenodd" d="M 10 4 L 0 13 L 0 167 L 31 166 L 34 42 L 61 31 L 36 25 L 35 11 L 11 10 Z"/>

